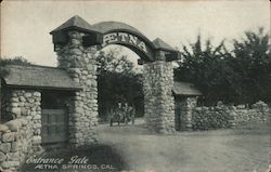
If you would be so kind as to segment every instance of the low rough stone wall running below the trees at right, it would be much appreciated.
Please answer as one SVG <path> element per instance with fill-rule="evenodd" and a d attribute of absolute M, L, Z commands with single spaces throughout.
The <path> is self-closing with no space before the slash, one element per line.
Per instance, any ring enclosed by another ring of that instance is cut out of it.
<path fill-rule="evenodd" d="M 196 107 L 193 109 L 193 130 L 234 128 L 247 122 L 269 122 L 270 108 L 258 102 L 251 108 L 227 106 L 221 102 L 215 107 Z"/>

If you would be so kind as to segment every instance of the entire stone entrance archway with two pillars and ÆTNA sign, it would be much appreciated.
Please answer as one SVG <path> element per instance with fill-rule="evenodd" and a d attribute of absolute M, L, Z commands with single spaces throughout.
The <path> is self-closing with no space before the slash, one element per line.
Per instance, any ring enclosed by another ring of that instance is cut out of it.
<path fill-rule="evenodd" d="M 159 133 L 175 131 L 171 61 L 179 52 L 159 38 L 150 41 L 136 28 L 118 22 L 88 24 L 74 16 L 50 32 L 59 67 L 65 68 L 82 90 L 76 92 L 69 111 L 69 142 L 77 146 L 96 141 L 98 84 L 95 53 L 108 44 L 136 52 L 143 64 L 145 123 Z"/>

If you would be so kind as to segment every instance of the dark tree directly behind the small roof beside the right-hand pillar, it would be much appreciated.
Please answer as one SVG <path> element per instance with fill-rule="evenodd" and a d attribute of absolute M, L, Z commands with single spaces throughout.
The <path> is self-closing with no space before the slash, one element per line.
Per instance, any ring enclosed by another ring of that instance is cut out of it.
<path fill-rule="evenodd" d="M 191 48 L 191 49 L 190 49 Z M 224 41 L 218 47 L 211 45 L 210 40 L 202 43 L 201 36 L 195 43 L 183 47 L 182 59 L 175 70 L 175 79 L 194 83 L 203 93 L 206 104 L 223 101 L 230 102 L 232 68 L 228 66 L 229 53 Z"/>

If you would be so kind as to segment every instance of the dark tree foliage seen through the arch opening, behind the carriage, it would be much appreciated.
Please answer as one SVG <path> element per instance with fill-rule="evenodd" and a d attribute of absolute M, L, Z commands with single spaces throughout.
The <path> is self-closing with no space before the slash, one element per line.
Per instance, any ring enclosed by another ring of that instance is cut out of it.
<path fill-rule="evenodd" d="M 142 104 L 141 75 L 134 72 L 134 65 L 126 56 L 117 57 L 118 53 L 101 51 L 98 57 L 99 115 L 103 119 L 119 102 L 130 106 Z"/>

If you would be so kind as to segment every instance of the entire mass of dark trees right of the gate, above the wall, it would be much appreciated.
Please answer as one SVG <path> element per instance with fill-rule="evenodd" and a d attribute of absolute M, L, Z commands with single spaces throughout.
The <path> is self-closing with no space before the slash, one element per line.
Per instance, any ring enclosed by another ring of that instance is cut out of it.
<path fill-rule="evenodd" d="M 190 48 L 183 47 L 176 80 L 193 82 L 205 104 L 271 102 L 270 44 L 263 29 L 246 31 L 245 38 L 234 40 L 232 51 L 224 41 L 214 47 L 207 40 L 203 45 L 201 36 Z"/>

